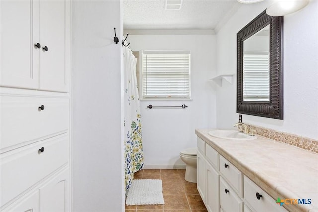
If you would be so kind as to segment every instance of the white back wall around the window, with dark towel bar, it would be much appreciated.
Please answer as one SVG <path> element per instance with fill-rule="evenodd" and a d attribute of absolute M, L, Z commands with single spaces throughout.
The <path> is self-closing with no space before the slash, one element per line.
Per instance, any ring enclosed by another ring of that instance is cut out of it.
<path fill-rule="evenodd" d="M 216 75 L 215 35 L 129 35 L 133 51 L 190 50 L 192 101 L 142 101 L 145 168 L 185 167 L 180 150 L 196 146 L 195 128 L 216 127 L 216 93 L 207 80 Z M 148 109 L 147 106 L 187 109 Z"/>

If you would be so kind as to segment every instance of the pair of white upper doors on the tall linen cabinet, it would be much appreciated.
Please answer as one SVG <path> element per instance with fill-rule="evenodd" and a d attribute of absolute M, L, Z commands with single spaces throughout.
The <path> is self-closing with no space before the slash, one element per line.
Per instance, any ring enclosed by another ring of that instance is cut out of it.
<path fill-rule="evenodd" d="M 0 86 L 68 92 L 70 0 L 0 0 Z"/>

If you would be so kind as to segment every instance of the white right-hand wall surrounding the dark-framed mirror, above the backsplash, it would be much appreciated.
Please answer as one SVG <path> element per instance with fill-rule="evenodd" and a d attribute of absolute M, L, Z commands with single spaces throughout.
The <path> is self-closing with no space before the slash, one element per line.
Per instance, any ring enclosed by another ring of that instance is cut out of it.
<path fill-rule="evenodd" d="M 236 73 L 236 33 L 270 1 L 242 5 L 217 33 L 217 72 Z M 243 115 L 243 122 L 318 139 L 318 1 L 284 16 L 284 120 Z M 235 80 L 236 81 L 236 80 Z M 236 83 L 217 92 L 217 126 L 238 121 Z"/>

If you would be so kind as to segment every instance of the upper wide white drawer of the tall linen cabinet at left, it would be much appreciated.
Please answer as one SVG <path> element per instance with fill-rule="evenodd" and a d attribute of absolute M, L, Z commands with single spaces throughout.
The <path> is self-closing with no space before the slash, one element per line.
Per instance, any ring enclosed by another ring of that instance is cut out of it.
<path fill-rule="evenodd" d="M 39 109 L 41 105 L 43 110 Z M 0 114 L 0 149 L 22 146 L 68 130 L 69 100 L 0 96 Z"/>

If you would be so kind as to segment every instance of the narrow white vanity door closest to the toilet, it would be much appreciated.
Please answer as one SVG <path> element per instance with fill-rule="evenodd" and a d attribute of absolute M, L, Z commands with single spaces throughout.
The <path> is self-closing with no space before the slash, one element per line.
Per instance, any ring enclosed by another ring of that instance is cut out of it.
<path fill-rule="evenodd" d="M 204 203 L 206 203 L 205 163 L 206 163 L 206 160 L 204 159 L 203 155 L 198 151 L 197 152 L 197 189 Z"/>

